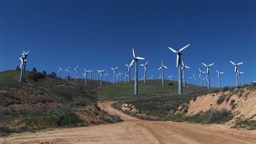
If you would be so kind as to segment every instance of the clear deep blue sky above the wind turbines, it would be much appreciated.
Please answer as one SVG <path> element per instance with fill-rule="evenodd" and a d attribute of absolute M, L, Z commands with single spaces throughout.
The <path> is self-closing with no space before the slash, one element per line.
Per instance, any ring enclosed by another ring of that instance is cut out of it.
<path fill-rule="evenodd" d="M 210 67 L 211 86 L 218 87 L 216 69 L 224 71 L 223 86 L 235 86 L 235 63 L 239 65 L 241 83 L 256 80 L 256 1 L 1 1 L 0 2 L 0 71 L 20 65 L 23 50 L 30 50 L 27 70 L 36 67 L 47 73 L 79 65 L 84 68 L 127 72 L 132 61 L 132 46 L 139 64 L 148 63 L 148 78 L 158 79 L 161 60 L 167 75 L 178 80 L 175 50 L 183 51 L 187 82 L 196 75 L 201 85 L 201 64 Z M 143 67 L 138 67 L 139 79 Z M 62 73 L 63 77 L 65 76 Z M 131 68 L 133 79 L 134 65 Z M 123 75 L 124 77 L 124 75 Z"/>

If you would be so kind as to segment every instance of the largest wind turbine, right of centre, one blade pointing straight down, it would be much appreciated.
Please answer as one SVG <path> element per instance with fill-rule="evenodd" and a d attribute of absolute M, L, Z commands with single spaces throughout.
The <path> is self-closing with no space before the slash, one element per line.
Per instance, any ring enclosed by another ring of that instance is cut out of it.
<path fill-rule="evenodd" d="M 190 44 L 182 47 L 182 49 L 180 49 L 179 51 L 173 50 L 171 47 L 168 47 L 171 51 L 173 51 L 174 53 L 177 53 L 177 67 L 179 67 L 178 73 L 179 73 L 179 88 L 178 88 L 178 92 L 179 95 L 182 94 L 182 69 L 181 69 L 181 51 L 184 50 L 186 47 L 188 47 Z"/>

